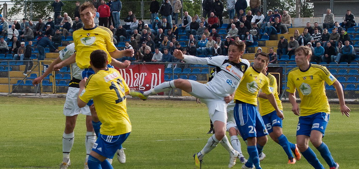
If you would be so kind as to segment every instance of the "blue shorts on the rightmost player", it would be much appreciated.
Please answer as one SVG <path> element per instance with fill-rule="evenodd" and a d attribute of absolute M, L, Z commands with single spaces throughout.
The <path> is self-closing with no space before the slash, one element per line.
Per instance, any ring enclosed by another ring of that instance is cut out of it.
<path fill-rule="evenodd" d="M 310 136 L 311 130 L 318 130 L 323 134 L 326 131 L 326 125 L 329 122 L 330 114 L 319 112 L 309 116 L 300 116 L 297 125 L 297 136 Z"/>

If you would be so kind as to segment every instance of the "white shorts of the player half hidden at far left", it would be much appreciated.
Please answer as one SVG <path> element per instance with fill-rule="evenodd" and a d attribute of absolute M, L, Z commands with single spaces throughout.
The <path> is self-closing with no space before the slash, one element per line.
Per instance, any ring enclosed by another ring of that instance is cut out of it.
<path fill-rule="evenodd" d="M 87 105 L 83 108 L 77 106 L 77 96 L 79 91 L 80 88 L 68 87 L 64 105 L 65 116 L 75 116 L 80 113 L 86 116 L 91 116 L 90 108 Z"/>

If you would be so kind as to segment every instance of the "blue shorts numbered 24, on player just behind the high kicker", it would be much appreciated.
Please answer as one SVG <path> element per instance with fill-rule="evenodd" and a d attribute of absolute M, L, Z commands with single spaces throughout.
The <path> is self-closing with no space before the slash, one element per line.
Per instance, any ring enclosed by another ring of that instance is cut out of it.
<path fill-rule="evenodd" d="M 236 103 L 233 115 L 243 140 L 268 135 L 267 128 L 256 106 Z"/>

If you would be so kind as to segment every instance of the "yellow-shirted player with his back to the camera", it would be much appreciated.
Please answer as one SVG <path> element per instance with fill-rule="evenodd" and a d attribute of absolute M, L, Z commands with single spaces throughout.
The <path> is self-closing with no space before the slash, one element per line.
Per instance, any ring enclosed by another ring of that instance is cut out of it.
<path fill-rule="evenodd" d="M 114 157 L 114 153 L 131 132 L 126 107 L 126 94 L 130 89 L 117 70 L 107 67 L 105 51 L 95 50 L 90 58 L 90 64 L 96 73 L 88 79 L 82 79 L 77 101 L 79 108 L 82 108 L 94 99 L 97 116 L 102 125 L 87 164 L 89 169 L 113 169 L 106 158 Z"/>

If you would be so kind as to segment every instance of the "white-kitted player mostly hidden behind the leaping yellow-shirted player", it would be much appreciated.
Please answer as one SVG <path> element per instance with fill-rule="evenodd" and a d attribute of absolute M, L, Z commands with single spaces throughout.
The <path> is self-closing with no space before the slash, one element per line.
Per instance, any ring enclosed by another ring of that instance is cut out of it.
<path fill-rule="evenodd" d="M 68 46 L 66 46 L 63 50 L 60 51 L 60 55 L 58 58 L 56 58 L 55 61 L 53 61 L 49 68 L 44 72 L 44 74 L 40 77 L 37 77 L 33 80 L 33 85 L 37 85 L 41 83 L 41 81 L 47 77 L 51 72 L 52 68 L 55 64 L 64 61 L 65 59 L 69 58 L 72 54 L 75 52 L 75 44 L 72 43 Z M 113 64 L 119 68 L 126 68 L 130 66 L 130 61 L 125 61 L 124 63 L 114 60 Z M 70 161 L 70 152 L 72 149 L 72 145 L 74 143 L 74 128 L 76 125 L 76 119 L 79 114 L 86 115 L 86 139 L 85 139 L 85 146 L 86 146 L 86 159 L 84 168 L 87 169 L 87 159 L 88 155 L 91 152 L 91 149 L 95 143 L 96 135 L 94 132 L 94 128 L 92 126 L 92 117 L 91 112 L 88 106 L 79 108 L 77 106 L 77 96 L 79 93 L 79 82 L 82 79 L 82 69 L 80 69 L 76 63 L 72 64 L 72 79 L 68 86 L 68 91 L 66 94 L 66 101 L 64 105 L 64 115 L 66 116 L 65 121 L 65 131 L 63 134 L 63 162 L 60 165 L 60 169 L 67 169 L 68 166 L 71 165 Z M 96 117 L 95 117 L 96 118 Z M 120 153 L 120 150 L 118 150 L 118 153 Z M 123 153 L 123 150 L 121 150 L 121 153 Z M 124 156 L 125 154 L 120 154 Z M 120 159 L 120 156 L 117 156 L 117 159 Z"/>

